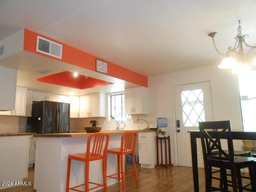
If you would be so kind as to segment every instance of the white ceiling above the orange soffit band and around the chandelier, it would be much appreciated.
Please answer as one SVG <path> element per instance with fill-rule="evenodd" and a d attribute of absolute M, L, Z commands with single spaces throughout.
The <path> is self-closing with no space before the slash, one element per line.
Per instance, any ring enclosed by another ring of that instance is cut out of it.
<path fill-rule="evenodd" d="M 0 40 L 27 28 L 155 76 L 218 64 L 208 33 L 226 53 L 238 20 L 255 45 L 255 10 L 255 0 L 0 0 Z"/>

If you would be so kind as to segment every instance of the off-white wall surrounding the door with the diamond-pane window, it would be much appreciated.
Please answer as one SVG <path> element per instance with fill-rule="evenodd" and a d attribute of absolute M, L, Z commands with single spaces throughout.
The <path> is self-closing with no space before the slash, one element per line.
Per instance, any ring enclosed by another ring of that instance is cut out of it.
<path fill-rule="evenodd" d="M 171 140 L 172 163 L 177 163 L 174 86 L 210 81 L 213 120 L 230 120 L 233 131 L 242 131 L 242 115 L 237 76 L 229 70 L 207 66 L 148 78 L 150 113 L 167 117 L 166 128 Z M 242 150 L 239 142 L 234 148 Z M 236 142 L 234 142 L 236 145 Z"/>

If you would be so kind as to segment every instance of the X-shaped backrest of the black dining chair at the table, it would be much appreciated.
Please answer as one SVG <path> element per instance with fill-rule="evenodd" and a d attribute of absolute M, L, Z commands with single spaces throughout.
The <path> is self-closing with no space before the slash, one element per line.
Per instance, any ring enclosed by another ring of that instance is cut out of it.
<path fill-rule="evenodd" d="M 234 164 L 234 147 L 230 121 L 198 122 L 204 163 L 208 160 L 222 160 Z M 228 153 L 221 144 L 227 143 Z"/>

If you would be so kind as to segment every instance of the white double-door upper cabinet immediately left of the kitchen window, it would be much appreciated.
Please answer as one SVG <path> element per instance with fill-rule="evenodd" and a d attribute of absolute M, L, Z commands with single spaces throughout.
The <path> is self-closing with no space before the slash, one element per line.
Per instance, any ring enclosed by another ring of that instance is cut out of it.
<path fill-rule="evenodd" d="M 80 96 L 79 117 L 106 117 L 106 94 L 95 93 Z"/>

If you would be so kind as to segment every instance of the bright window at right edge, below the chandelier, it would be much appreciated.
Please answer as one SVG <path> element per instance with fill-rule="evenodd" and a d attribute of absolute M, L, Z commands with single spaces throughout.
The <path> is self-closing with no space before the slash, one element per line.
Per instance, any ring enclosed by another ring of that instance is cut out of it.
<path fill-rule="evenodd" d="M 244 131 L 256 132 L 256 70 L 238 75 Z"/>

